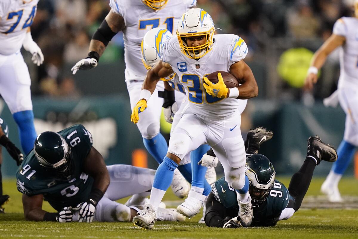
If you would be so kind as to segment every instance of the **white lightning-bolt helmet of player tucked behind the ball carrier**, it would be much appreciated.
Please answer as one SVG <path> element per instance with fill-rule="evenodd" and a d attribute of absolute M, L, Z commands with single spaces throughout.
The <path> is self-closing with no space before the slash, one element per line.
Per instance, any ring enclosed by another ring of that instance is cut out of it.
<path fill-rule="evenodd" d="M 164 42 L 171 37 L 173 37 L 173 35 L 167 29 L 159 27 L 149 30 L 144 35 L 140 52 L 142 54 L 142 62 L 147 70 L 160 61 L 161 48 Z M 173 79 L 174 76 L 175 73 L 168 77 L 160 78 L 160 80 L 169 81 Z"/>

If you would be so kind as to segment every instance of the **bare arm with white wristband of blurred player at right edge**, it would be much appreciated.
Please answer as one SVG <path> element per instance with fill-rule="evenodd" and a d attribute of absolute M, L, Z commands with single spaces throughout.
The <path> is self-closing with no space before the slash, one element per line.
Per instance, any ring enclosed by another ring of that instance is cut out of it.
<path fill-rule="evenodd" d="M 328 55 L 334 51 L 339 46 L 342 46 L 345 42 L 345 37 L 332 34 L 323 45 L 315 52 L 313 55 L 311 66 L 308 69 L 307 77 L 305 81 L 304 88 L 311 90 L 313 85 L 317 83 L 318 80 L 318 71 L 323 66 Z"/>

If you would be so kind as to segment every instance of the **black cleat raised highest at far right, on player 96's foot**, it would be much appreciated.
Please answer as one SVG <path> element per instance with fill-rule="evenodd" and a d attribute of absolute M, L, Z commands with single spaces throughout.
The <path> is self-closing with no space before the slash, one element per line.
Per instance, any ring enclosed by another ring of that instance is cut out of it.
<path fill-rule="evenodd" d="M 322 142 L 317 135 L 308 138 L 307 156 L 312 156 L 317 160 L 317 165 L 322 161 L 335 162 L 337 151 L 330 144 Z"/>

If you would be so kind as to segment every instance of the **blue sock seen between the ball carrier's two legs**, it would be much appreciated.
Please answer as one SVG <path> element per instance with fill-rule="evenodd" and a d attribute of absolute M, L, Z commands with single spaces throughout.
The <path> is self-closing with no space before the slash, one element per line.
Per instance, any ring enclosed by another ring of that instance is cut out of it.
<path fill-rule="evenodd" d="M 205 179 L 205 173 L 207 168 L 198 165 L 198 162 L 209 149 L 209 145 L 203 144 L 190 153 L 190 160 L 192 161 L 191 166 L 193 172 L 192 186 L 204 188 L 203 195 L 205 196 L 209 195 L 209 193 L 211 192 L 211 186 Z"/>

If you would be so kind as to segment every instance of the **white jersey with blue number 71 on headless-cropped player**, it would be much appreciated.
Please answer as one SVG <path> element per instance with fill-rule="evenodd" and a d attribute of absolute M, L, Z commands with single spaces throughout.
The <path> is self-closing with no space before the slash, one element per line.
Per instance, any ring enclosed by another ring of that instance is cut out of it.
<path fill-rule="evenodd" d="M 140 54 L 145 33 L 165 27 L 175 34 L 180 17 L 196 3 L 196 0 L 168 0 L 163 9 L 156 11 L 141 0 L 110 0 L 112 10 L 124 18 L 126 25 L 123 30 L 126 81 L 144 80 L 147 73 Z"/>

